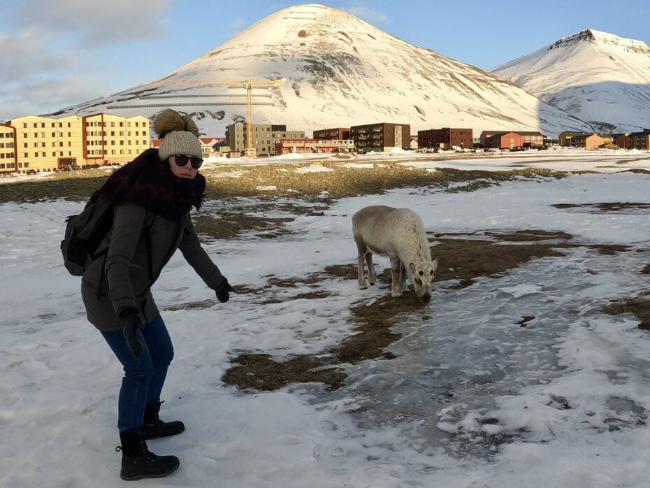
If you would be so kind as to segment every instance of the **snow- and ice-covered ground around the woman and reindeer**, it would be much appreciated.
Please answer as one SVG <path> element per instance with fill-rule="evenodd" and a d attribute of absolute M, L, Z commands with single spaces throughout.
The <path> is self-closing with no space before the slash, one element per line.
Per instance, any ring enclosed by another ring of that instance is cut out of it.
<path fill-rule="evenodd" d="M 639 157 L 647 165 L 647 153 Z M 578 159 L 592 167 L 613 160 Z M 350 217 L 372 204 L 413 208 L 431 232 L 565 231 L 582 245 L 464 289 L 436 281 L 426 309 L 395 326 L 396 358 L 348 366 L 335 392 L 317 384 L 241 392 L 222 375 L 242 352 L 283 359 L 340 343 L 353 333 L 350 306 L 373 306 L 389 284 L 359 291 L 356 280 L 324 278 L 320 289 L 333 294 L 324 299 L 261 305 L 240 294 L 219 304 L 175 256 L 154 287 L 175 344 L 162 417 L 182 419 L 187 430 L 150 442 L 181 460 L 155 486 L 647 487 L 650 337 L 632 316 L 600 309 L 650 290 L 640 273 L 650 264 L 649 210 L 551 205 L 650 203 L 649 184 L 650 175 L 595 173 L 470 193 L 400 189 L 342 199 L 323 216 L 296 215 L 284 237 L 206 241 L 229 280 L 249 287 L 356 263 Z M 64 217 L 80 208 L 0 205 L 1 487 L 121 485 L 121 368 L 86 322 L 79 280 L 58 249 Z M 584 247 L 591 244 L 630 249 L 605 255 Z M 375 263 L 388 266 L 381 257 Z M 310 291 L 268 285 L 265 293 Z M 522 327 L 522 316 L 535 319 Z"/>

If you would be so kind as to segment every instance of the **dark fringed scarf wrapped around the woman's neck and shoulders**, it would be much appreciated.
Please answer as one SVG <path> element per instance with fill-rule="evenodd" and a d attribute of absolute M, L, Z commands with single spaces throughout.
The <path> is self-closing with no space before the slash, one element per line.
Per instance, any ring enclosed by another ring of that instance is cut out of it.
<path fill-rule="evenodd" d="M 115 171 L 100 190 L 115 205 L 136 203 L 168 219 L 192 207 L 201 208 L 204 191 L 203 175 L 196 173 L 192 180 L 178 178 L 169 163 L 160 160 L 157 149 L 147 149 Z"/>

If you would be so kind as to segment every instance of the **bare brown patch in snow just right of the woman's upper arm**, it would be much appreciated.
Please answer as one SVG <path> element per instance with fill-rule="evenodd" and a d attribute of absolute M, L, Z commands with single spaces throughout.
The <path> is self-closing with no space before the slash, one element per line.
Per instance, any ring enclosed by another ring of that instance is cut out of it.
<path fill-rule="evenodd" d="M 215 239 L 236 238 L 250 233 L 259 238 L 276 238 L 291 234 L 282 224 L 292 222 L 291 217 L 255 217 L 243 213 L 222 212 L 219 217 L 198 214 L 194 217 L 194 228 L 198 234 Z"/>

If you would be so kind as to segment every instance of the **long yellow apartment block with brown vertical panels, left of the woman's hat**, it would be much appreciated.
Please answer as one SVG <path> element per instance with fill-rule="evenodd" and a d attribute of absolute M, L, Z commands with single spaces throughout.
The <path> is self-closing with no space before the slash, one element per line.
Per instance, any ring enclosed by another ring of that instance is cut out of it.
<path fill-rule="evenodd" d="M 15 130 L 12 171 L 58 171 L 127 163 L 150 147 L 149 120 L 141 115 L 99 113 L 58 119 L 25 115 L 10 120 L 6 126 Z"/>

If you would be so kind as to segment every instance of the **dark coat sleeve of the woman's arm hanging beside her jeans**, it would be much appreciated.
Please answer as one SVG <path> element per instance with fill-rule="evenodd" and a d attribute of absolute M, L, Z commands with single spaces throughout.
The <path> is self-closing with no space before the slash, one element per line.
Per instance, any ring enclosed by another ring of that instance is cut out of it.
<path fill-rule="evenodd" d="M 146 215 L 147 210 L 133 203 L 115 208 L 113 231 L 106 255 L 106 277 L 108 296 L 113 301 L 113 308 L 118 316 L 120 310 L 136 307 L 136 296 L 129 269 L 140 241 Z"/>

